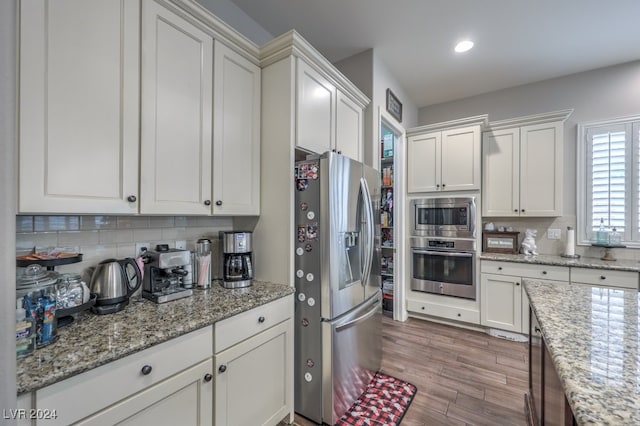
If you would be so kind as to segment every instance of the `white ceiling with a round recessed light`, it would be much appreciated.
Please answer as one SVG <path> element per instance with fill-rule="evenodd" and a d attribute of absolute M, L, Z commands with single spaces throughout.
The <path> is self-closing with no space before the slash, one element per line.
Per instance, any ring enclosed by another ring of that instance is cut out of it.
<path fill-rule="evenodd" d="M 232 1 L 331 62 L 374 48 L 418 107 L 640 59 L 640 0 Z"/>

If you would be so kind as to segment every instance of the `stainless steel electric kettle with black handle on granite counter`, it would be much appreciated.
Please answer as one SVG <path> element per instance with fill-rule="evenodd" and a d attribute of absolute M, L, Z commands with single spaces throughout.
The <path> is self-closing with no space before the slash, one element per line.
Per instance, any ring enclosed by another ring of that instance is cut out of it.
<path fill-rule="evenodd" d="M 91 293 L 97 294 L 92 312 L 110 314 L 121 311 L 141 284 L 142 273 L 134 259 L 103 260 L 91 275 L 89 288 Z"/>

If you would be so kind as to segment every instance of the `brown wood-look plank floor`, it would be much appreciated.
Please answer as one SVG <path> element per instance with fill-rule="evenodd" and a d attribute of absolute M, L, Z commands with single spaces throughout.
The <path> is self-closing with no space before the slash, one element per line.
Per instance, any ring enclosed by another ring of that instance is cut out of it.
<path fill-rule="evenodd" d="M 526 343 L 410 318 L 383 321 L 382 372 L 418 388 L 402 426 L 526 424 Z M 295 424 L 314 423 L 297 416 Z"/>

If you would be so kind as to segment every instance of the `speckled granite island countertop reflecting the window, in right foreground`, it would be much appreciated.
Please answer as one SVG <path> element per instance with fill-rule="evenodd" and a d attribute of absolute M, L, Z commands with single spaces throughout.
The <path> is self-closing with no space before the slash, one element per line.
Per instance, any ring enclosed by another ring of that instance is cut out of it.
<path fill-rule="evenodd" d="M 640 424 L 636 290 L 524 279 L 578 424 Z"/>

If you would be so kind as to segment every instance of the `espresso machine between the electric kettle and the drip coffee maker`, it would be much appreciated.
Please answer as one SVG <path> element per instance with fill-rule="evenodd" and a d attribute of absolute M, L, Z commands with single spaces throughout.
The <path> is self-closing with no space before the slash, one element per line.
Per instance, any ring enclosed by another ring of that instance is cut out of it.
<path fill-rule="evenodd" d="M 190 275 L 191 252 L 170 249 L 166 244 L 156 246 L 156 251 L 148 251 L 142 280 L 142 297 L 156 303 L 188 297 L 193 294 Z M 185 286 L 189 288 L 185 288 Z"/>

